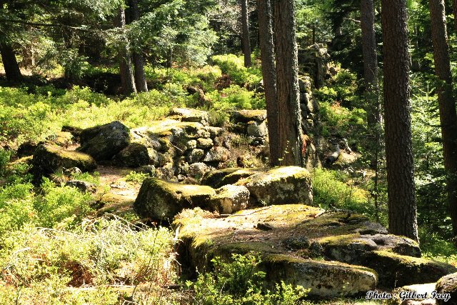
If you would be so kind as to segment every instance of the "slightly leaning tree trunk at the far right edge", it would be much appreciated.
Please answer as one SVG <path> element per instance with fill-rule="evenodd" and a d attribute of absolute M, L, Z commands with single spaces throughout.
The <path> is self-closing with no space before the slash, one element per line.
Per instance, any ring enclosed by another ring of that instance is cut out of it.
<path fill-rule="evenodd" d="M 444 0 L 429 0 L 428 4 L 430 6 L 435 73 L 439 81 L 436 89 L 440 109 L 441 136 L 443 137 L 444 168 L 448 178 L 448 204 L 451 211 L 453 234 L 457 236 L 457 114 L 452 92 L 446 11 Z"/>

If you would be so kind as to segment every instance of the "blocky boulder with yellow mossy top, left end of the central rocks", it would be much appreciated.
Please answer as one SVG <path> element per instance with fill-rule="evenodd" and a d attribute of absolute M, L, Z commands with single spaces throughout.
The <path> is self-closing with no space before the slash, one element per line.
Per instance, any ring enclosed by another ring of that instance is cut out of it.
<path fill-rule="evenodd" d="M 148 178 L 141 184 L 134 209 L 145 218 L 166 220 L 183 209 L 210 206 L 211 196 L 215 194 L 216 191 L 209 186 Z"/>

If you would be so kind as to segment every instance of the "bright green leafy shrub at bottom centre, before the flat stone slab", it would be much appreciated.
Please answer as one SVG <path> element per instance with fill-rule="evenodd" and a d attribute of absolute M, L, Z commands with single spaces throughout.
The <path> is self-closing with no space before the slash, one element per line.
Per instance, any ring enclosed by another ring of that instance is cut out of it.
<path fill-rule="evenodd" d="M 296 305 L 309 290 L 301 286 L 276 284 L 273 291 L 263 284 L 266 274 L 259 271 L 261 263 L 252 254 L 232 254 L 226 263 L 212 260 L 214 271 L 200 274 L 194 283 L 195 304 L 201 305 Z M 191 283 L 188 283 L 191 285 Z"/>

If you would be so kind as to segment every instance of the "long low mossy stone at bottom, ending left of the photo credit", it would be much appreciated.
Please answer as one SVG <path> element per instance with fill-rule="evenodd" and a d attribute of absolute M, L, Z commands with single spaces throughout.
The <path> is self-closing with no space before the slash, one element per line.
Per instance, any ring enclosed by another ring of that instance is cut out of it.
<path fill-rule="evenodd" d="M 268 254 L 263 257 L 266 280 L 311 288 L 308 295 L 333 298 L 358 296 L 373 290 L 377 284 L 376 271 L 363 266 L 336 261 L 315 261 L 286 254 Z"/>

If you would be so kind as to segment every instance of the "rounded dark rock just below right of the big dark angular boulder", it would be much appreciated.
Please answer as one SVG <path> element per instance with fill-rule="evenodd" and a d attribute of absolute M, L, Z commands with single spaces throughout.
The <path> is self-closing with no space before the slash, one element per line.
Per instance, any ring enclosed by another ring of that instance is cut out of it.
<path fill-rule="evenodd" d="M 155 152 L 155 151 L 154 151 Z M 153 160 L 154 164 L 159 164 L 159 156 L 154 154 Z M 119 166 L 127 166 L 127 167 L 139 167 L 148 165 L 151 162 L 151 158 L 149 156 L 148 148 L 144 144 L 139 143 L 131 143 L 125 149 L 119 151 L 119 154 L 114 156 L 114 163 Z"/>

